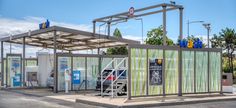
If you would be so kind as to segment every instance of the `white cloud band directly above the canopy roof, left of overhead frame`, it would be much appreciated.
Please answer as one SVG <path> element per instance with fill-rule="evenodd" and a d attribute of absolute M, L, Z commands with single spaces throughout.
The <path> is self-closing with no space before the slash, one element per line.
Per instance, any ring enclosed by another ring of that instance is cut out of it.
<path fill-rule="evenodd" d="M 42 17 L 24 17 L 23 19 L 11 19 L 0 16 L 0 37 L 15 35 L 29 30 L 38 29 L 38 24 L 46 21 Z M 84 31 L 92 31 L 92 27 L 87 24 L 70 24 L 65 22 L 50 21 L 51 26 L 57 25 Z"/>

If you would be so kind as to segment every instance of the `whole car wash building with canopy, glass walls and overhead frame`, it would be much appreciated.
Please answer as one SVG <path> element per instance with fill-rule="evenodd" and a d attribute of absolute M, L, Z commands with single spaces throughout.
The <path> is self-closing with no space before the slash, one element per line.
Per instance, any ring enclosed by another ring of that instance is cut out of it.
<path fill-rule="evenodd" d="M 153 11 L 148 11 L 153 9 Z M 142 96 L 166 96 L 199 93 L 222 93 L 221 57 L 222 50 L 217 48 L 189 49 L 179 46 L 166 46 L 166 12 L 179 10 L 179 38 L 183 38 L 183 6 L 174 4 L 158 4 L 130 12 L 119 13 L 93 20 L 93 32 L 86 32 L 65 27 L 52 26 L 34 30 L 12 37 L 1 38 L 1 72 L 2 86 L 26 86 L 26 45 L 53 49 L 54 92 L 65 90 L 64 71 L 71 70 L 71 77 L 79 73 L 79 83 L 72 79 L 70 90 L 93 90 L 98 77 L 101 86 L 108 77 L 115 75 L 110 88 L 101 89 L 100 94 L 116 96 L 120 86 L 127 85 L 127 98 Z M 134 13 L 132 13 L 134 12 Z M 127 21 L 141 16 L 163 14 L 163 46 L 140 44 L 138 41 L 110 36 L 112 23 Z M 97 34 L 96 23 L 108 26 L 108 34 Z M 23 53 L 4 55 L 4 43 L 14 43 L 23 46 Z M 101 48 L 126 46 L 127 55 L 104 55 Z M 73 53 L 78 50 L 98 49 L 97 54 Z M 58 52 L 63 50 L 65 52 Z M 40 54 L 39 54 L 40 55 Z M 40 57 L 36 58 L 37 61 Z M 4 62 L 3 60 L 6 60 Z M 50 61 L 50 60 L 49 60 Z M 41 62 L 43 63 L 43 61 Z M 39 63 L 39 64 L 41 64 Z M 47 69 L 48 65 L 38 66 Z M 111 69 L 109 75 L 103 77 L 106 69 Z M 125 81 L 119 82 L 121 74 Z M 43 77 L 48 77 L 50 69 Z M 43 71 L 38 74 L 42 74 Z M 118 85 L 121 83 L 121 85 Z M 109 89 L 109 90 L 108 90 Z"/>

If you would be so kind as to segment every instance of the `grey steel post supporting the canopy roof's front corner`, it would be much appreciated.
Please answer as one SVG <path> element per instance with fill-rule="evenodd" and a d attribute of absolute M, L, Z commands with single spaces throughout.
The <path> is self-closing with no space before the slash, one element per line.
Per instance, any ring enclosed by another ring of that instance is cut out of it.
<path fill-rule="evenodd" d="M 53 71 L 54 71 L 54 87 L 53 91 L 54 93 L 58 92 L 58 85 L 57 85 L 57 80 L 58 80 L 58 72 L 57 72 L 57 37 L 56 37 L 56 31 L 53 31 Z"/>

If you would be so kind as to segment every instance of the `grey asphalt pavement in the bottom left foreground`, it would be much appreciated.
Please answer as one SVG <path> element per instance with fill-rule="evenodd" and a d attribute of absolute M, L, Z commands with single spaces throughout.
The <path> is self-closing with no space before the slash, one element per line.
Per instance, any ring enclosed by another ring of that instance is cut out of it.
<path fill-rule="evenodd" d="M 62 101 L 44 96 L 30 96 L 0 90 L 0 108 L 98 108 L 81 103 Z"/>

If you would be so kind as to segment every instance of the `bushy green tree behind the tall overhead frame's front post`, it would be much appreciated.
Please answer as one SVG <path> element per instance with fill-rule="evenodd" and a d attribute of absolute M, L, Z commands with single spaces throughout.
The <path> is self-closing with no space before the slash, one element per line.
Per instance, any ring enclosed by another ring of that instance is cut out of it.
<path fill-rule="evenodd" d="M 162 45 L 163 44 L 163 27 L 159 26 L 154 28 L 147 33 L 146 44 L 149 45 Z M 174 45 L 174 42 L 166 36 L 166 44 Z"/>

